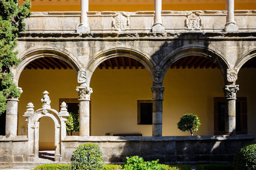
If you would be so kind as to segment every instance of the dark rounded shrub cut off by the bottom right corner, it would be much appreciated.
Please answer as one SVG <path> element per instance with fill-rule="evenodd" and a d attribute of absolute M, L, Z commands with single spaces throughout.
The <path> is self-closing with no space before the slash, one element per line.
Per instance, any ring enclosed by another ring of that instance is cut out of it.
<path fill-rule="evenodd" d="M 243 146 L 234 156 L 234 169 L 256 169 L 256 143 Z"/>

